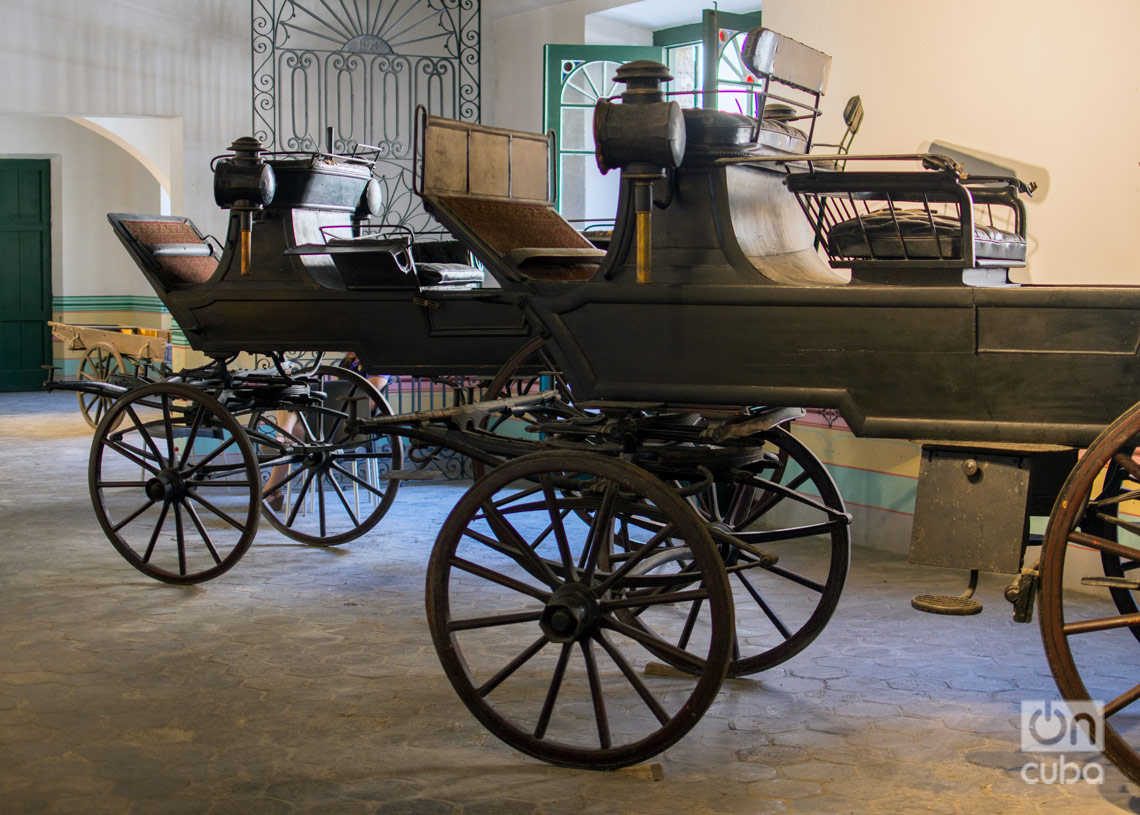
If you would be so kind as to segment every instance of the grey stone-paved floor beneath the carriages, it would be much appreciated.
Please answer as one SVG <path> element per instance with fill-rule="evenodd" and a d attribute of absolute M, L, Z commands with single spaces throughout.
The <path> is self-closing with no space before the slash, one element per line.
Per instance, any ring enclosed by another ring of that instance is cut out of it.
<path fill-rule="evenodd" d="M 1056 688 L 1035 626 L 919 614 L 958 578 L 857 548 L 828 630 L 725 683 L 663 780 L 543 765 L 466 712 L 423 616 L 459 489 L 401 490 L 364 540 L 263 525 L 202 586 L 153 582 L 98 531 L 66 394 L 0 394 L 0 813 L 1097 813 L 1102 785 L 1026 784 L 1019 702 Z"/>

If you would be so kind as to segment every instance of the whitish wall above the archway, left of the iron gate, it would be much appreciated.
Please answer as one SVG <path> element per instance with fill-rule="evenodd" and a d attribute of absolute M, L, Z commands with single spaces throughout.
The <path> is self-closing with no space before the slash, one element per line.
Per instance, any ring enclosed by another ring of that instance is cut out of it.
<path fill-rule="evenodd" d="M 5 0 L 3 13 L 0 114 L 180 116 L 172 209 L 223 228 L 209 163 L 251 128 L 249 3 Z"/>

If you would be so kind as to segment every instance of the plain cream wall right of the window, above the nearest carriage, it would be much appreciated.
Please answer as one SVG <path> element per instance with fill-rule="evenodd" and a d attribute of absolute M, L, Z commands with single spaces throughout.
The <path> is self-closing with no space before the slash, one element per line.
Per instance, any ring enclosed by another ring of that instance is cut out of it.
<path fill-rule="evenodd" d="M 862 95 L 856 153 L 938 139 L 1043 169 L 1033 283 L 1140 285 L 1140 3 L 765 0 L 764 24 L 833 57 L 824 136 Z"/>

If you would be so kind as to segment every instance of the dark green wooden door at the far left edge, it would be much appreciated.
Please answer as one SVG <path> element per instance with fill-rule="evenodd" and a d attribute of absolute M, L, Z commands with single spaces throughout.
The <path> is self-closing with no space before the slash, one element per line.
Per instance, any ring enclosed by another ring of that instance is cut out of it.
<path fill-rule="evenodd" d="M 51 362 L 50 162 L 0 160 L 0 391 L 39 390 Z"/>

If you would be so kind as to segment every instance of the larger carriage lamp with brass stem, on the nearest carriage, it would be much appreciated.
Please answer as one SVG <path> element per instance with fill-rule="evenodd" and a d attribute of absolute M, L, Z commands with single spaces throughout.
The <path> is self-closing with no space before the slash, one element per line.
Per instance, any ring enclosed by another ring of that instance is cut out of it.
<path fill-rule="evenodd" d="M 650 278 L 653 181 L 676 169 L 685 155 L 681 105 L 665 101 L 661 92 L 661 83 L 671 79 L 669 68 L 661 63 L 626 63 L 613 78 L 626 85 L 621 104 L 600 99 L 594 106 L 597 169 L 606 173 L 620 168 L 622 178 L 633 186 L 637 283 L 649 283 Z"/>

